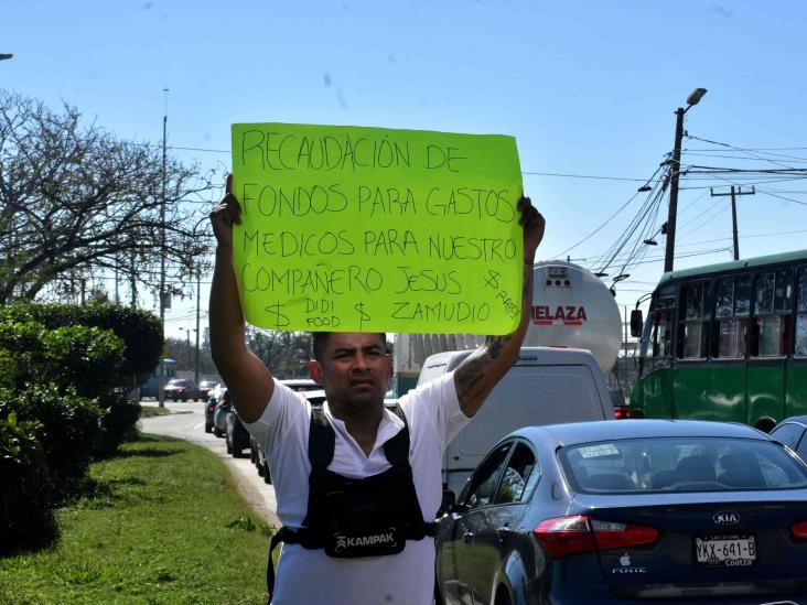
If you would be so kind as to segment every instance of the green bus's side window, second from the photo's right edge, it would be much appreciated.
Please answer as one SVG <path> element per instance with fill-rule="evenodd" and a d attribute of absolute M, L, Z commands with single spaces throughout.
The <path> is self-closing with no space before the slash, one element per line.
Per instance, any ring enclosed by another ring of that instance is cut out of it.
<path fill-rule="evenodd" d="M 781 357 L 789 353 L 793 276 L 788 270 L 756 276 L 754 314 L 756 346 L 754 357 Z"/>

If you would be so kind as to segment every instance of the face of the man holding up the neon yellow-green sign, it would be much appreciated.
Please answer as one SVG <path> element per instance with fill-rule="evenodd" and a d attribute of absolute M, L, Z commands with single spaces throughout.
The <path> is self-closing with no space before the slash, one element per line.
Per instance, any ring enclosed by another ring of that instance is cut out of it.
<path fill-rule="evenodd" d="M 353 409 L 378 406 L 389 388 L 391 357 L 377 333 L 334 332 L 322 359 L 309 364 L 329 403 Z"/>

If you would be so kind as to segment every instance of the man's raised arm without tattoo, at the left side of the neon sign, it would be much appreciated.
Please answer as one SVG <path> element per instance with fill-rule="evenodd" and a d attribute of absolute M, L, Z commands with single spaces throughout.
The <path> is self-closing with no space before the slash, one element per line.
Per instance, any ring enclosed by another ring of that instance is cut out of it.
<path fill-rule="evenodd" d="M 216 264 L 211 285 L 209 324 L 213 361 L 245 422 L 260 418 L 271 399 L 271 374 L 245 343 L 246 324 L 233 257 L 233 225 L 240 223 L 240 207 L 233 195 L 233 175 L 226 195 L 211 213 L 216 236 Z"/>

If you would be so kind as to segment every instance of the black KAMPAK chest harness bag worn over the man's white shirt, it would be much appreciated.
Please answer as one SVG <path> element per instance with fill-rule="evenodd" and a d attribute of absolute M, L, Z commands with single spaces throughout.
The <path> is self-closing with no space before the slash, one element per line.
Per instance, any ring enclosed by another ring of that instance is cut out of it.
<path fill-rule="evenodd" d="M 329 557 L 353 559 L 398 554 L 407 540 L 437 534 L 437 523 L 426 522 L 409 464 L 409 426 L 399 406 L 391 409 L 404 429 L 384 444 L 391 464 L 378 475 L 361 479 L 327 469 L 333 461 L 336 434 L 319 406 L 311 408 L 309 433 L 309 508 L 303 527 L 282 527 L 269 545 L 266 583 L 271 601 L 275 590 L 272 551 L 280 542 L 306 549 L 324 549 Z"/>

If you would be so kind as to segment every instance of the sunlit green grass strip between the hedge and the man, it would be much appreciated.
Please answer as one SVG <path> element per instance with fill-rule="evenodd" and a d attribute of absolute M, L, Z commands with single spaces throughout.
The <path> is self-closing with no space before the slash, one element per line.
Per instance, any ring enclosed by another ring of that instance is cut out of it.
<path fill-rule="evenodd" d="M 0 558 L 0 603 L 266 603 L 270 531 L 215 454 L 141 435 L 90 475 L 53 549 Z"/>

